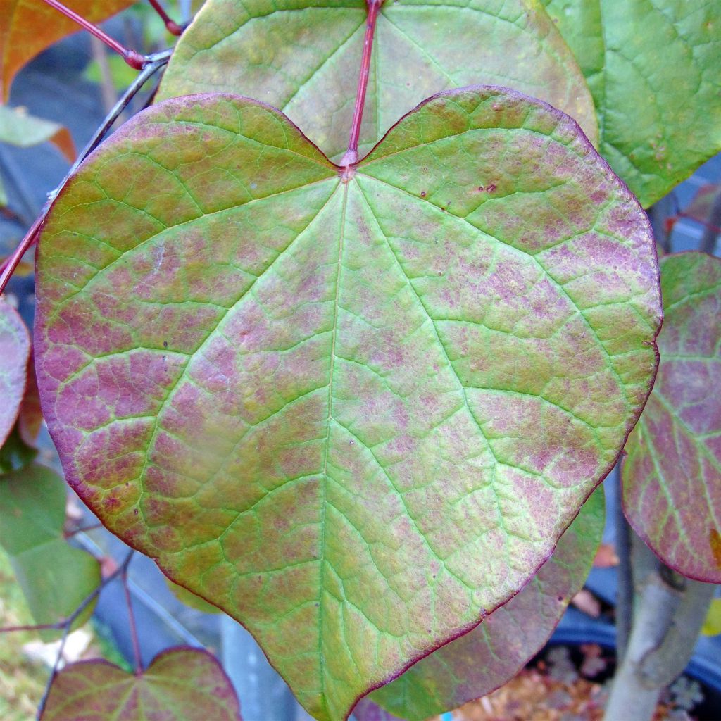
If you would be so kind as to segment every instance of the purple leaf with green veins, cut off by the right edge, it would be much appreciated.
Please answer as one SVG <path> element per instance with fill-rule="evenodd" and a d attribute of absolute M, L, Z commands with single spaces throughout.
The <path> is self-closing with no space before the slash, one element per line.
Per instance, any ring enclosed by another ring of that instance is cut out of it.
<path fill-rule="evenodd" d="M 665 563 L 721 583 L 721 260 L 682 253 L 660 265 L 661 360 L 626 446 L 624 510 Z"/>

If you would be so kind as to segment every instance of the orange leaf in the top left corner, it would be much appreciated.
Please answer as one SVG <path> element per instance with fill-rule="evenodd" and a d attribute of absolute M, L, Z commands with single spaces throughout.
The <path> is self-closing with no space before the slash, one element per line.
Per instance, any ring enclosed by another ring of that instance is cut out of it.
<path fill-rule="evenodd" d="M 90 22 L 102 22 L 135 0 L 63 0 Z M 0 0 L 0 100 L 17 71 L 45 48 L 79 26 L 39 0 Z"/>

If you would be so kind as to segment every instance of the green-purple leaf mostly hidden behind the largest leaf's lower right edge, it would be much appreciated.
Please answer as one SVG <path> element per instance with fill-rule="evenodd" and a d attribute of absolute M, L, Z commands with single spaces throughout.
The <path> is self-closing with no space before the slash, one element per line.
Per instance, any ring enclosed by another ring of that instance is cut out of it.
<path fill-rule="evenodd" d="M 402 719 L 423 721 L 490 694 L 516 676 L 547 642 L 571 598 L 583 588 L 601 543 L 604 510 L 599 488 L 518 596 L 362 699 L 353 710 L 358 721 L 366 721 L 366 713 L 371 716 L 369 704 Z"/>

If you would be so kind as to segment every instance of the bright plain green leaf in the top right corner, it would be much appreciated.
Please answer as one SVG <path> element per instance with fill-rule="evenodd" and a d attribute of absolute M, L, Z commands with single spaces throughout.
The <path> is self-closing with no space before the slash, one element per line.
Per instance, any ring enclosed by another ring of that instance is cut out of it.
<path fill-rule="evenodd" d="M 721 3 L 541 2 L 588 80 L 601 155 L 644 207 L 721 150 Z"/>

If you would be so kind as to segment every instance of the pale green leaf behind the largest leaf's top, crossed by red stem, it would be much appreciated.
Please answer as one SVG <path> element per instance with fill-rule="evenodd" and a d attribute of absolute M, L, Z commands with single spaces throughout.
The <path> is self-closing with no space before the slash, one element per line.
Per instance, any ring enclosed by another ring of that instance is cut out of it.
<path fill-rule="evenodd" d="M 178 42 L 159 99 L 255 97 L 283 110 L 327 156 L 340 156 L 366 17 L 366 0 L 208 0 Z M 376 23 L 361 155 L 425 98 L 477 83 L 546 100 L 598 137 L 583 74 L 538 3 L 396 0 Z"/>

